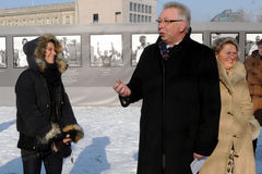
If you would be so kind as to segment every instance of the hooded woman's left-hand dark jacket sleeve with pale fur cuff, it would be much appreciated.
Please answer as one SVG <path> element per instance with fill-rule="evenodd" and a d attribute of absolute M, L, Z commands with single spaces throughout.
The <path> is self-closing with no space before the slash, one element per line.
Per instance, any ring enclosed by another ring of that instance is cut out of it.
<path fill-rule="evenodd" d="M 60 134 L 60 129 L 48 122 L 39 111 L 34 77 L 31 75 L 28 72 L 22 73 L 15 84 L 17 129 L 27 136 L 36 137 L 40 144 L 47 144 Z"/>

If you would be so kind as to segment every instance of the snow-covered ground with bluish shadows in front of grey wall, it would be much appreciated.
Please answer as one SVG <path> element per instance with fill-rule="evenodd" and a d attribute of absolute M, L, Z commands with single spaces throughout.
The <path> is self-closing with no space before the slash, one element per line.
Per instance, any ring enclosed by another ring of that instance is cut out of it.
<path fill-rule="evenodd" d="M 135 174 L 140 107 L 73 108 L 85 137 L 73 145 L 63 174 Z M 22 174 L 16 148 L 15 108 L 0 107 L 0 174 Z M 72 162 L 73 161 L 73 162 Z M 262 134 L 257 150 L 257 174 L 262 174 Z M 41 172 L 45 173 L 44 170 Z"/>

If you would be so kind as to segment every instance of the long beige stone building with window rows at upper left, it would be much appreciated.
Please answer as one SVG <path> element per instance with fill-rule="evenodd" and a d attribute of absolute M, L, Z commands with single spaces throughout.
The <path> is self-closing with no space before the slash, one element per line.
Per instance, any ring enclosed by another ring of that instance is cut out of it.
<path fill-rule="evenodd" d="M 75 3 L 0 10 L 0 26 L 70 25 L 75 23 Z"/>

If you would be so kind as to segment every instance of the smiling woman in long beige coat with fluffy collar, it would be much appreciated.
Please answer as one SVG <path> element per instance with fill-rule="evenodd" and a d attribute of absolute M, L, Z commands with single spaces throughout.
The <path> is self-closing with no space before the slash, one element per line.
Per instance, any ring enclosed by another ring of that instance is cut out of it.
<path fill-rule="evenodd" d="M 200 174 L 255 174 L 252 139 L 260 134 L 246 82 L 246 70 L 238 61 L 238 45 L 219 38 L 216 53 L 221 80 L 222 111 L 218 144 Z"/>

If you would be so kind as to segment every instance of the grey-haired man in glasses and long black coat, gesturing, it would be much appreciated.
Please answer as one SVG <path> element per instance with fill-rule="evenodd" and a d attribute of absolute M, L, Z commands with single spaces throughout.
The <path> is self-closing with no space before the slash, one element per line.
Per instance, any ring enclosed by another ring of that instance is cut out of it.
<path fill-rule="evenodd" d="M 138 174 L 191 174 L 194 158 L 217 144 L 221 96 L 214 52 L 190 39 L 190 11 L 166 3 L 159 38 L 143 51 L 128 85 L 116 79 L 121 104 L 143 99 Z"/>

